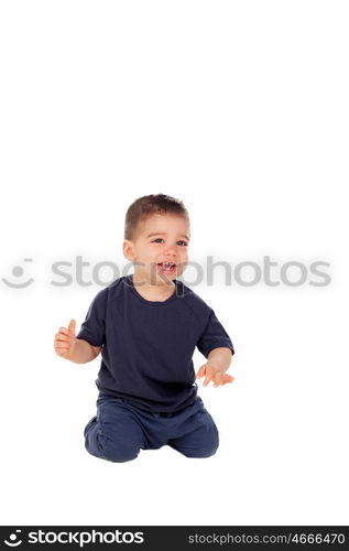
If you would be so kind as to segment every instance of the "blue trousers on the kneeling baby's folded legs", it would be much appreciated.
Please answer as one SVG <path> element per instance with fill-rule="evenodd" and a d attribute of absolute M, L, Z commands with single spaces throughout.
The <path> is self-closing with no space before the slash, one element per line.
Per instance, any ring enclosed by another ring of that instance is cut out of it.
<path fill-rule="evenodd" d="M 102 460 L 123 463 L 140 450 L 168 445 L 186 457 L 209 457 L 219 445 L 215 421 L 199 396 L 174 413 L 151 413 L 99 391 L 97 415 L 84 430 L 85 447 Z"/>

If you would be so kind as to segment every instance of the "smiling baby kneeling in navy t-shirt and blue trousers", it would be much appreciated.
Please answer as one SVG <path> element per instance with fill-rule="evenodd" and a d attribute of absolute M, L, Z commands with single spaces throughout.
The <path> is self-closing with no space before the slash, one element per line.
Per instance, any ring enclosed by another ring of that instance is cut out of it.
<path fill-rule="evenodd" d="M 77 335 L 75 320 L 55 335 L 56 354 L 76 364 L 101 352 L 97 415 L 84 431 L 85 447 L 96 457 L 121 463 L 164 445 L 186 457 L 209 457 L 218 449 L 192 358 L 197 346 L 207 361 L 196 378 L 218 387 L 233 380 L 226 371 L 235 349 L 214 310 L 176 279 L 188 244 L 182 202 L 163 194 L 134 201 L 123 241 L 134 273 L 97 293 Z"/>

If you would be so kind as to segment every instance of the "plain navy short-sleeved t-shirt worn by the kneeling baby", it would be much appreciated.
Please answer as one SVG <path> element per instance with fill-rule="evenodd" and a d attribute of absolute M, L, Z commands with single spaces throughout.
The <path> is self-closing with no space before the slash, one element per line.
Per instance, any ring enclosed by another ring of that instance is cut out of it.
<path fill-rule="evenodd" d="M 221 346 L 235 354 L 216 314 L 183 281 L 165 301 L 149 301 L 123 276 L 97 293 L 77 338 L 101 346 L 96 386 L 151 412 L 174 412 L 197 395 L 195 347 L 207 358 Z"/>

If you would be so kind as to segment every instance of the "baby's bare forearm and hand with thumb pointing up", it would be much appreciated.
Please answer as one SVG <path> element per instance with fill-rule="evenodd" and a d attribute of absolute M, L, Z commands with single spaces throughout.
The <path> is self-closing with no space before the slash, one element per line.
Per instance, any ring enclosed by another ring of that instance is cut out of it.
<path fill-rule="evenodd" d="M 74 364 L 87 364 L 98 356 L 101 346 L 92 346 L 83 338 L 76 338 L 75 320 L 70 320 L 68 328 L 59 327 L 56 333 L 54 348 L 58 356 Z"/>

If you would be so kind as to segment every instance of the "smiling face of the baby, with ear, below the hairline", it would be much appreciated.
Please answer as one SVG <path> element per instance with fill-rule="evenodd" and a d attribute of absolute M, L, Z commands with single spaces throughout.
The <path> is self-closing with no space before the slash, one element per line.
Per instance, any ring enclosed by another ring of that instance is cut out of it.
<path fill-rule="evenodd" d="M 185 270 L 189 237 L 189 224 L 185 217 L 154 214 L 140 224 L 134 240 L 123 242 L 123 253 L 135 262 L 138 276 L 143 276 L 151 284 L 168 284 Z M 175 266 L 167 268 L 164 262 Z"/>

